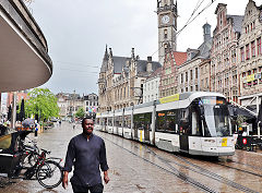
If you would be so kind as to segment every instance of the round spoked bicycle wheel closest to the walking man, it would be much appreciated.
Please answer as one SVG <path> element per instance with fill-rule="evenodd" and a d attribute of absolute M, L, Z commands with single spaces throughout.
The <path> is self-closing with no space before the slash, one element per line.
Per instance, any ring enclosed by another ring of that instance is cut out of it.
<path fill-rule="evenodd" d="M 52 160 L 47 160 L 36 171 L 36 179 L 46 189 L 53 189 L 62 182 L 62 167 Z"/>

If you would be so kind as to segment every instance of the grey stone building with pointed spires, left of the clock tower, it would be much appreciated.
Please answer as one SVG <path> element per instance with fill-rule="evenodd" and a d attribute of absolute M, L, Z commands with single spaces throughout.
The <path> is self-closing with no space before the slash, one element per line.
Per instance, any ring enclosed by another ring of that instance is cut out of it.
<path fill-rule="evenodd" d="M 160 67 L 159 62 L 140 60 L 132 48 L 131 57 L 117 57 L 106 48 L 99 72 L 99 112 L 141 104 L 144 81 Z"/>

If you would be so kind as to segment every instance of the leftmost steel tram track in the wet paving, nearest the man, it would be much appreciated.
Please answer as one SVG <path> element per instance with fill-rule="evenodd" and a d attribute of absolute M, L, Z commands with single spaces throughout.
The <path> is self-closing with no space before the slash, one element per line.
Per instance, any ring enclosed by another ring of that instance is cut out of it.
<path fill-rule="evenodd" d="M 193 178 L 188 177 L 186 173 L 183 173 L 183 172 L 181 172 L 181 171 L 178 171 L 178 170 L 177 170 L 175 167 L 172 167 L 170 164 L 167 164 L 167 162 L 166 162 L 166 166 L 168 166 L 168 168 L 171 169 L 171 170 L 168 170 L 168 169 L 166 169 L 166 168 L 164 168 L 164 167 L 162 167 L 162 166 L 159 166 L 159 165 L 151 161 L 150 159 L 146 159 L 146 158 L 144 158 L 144 157 L 141 157 L 140 155 L 133 153 L 132 150 L 130 150 L 130 149 L 128 149 L 128 148 L 124 148 L 124 147 L 122 147 L 121 145 L 118 145 L 117 143 L 115 143 L 115 142 L 111 141 L 111 140 L 108 140 L 108 138 L 104 138 L 104 140 L 106 140 L 106 141 L 112 143 L 114 145 L 116 145 L 116 146 L 124 149 L 126 152 L 132 154 L 133 156 L 139 157 L 140 159 L 143 159 L 144 161 L 150 162 L 151 165 L 156 166 L 157 168 L 159 168 L 159 169 L 162 169 L 162 170 L 164 170 L 164 171 L 166 171 L 166 172 L 168 172 L 168 173 L 171 173 L 172 176 L 176 176 L 176 177 L 179 178 L 180 180 L 182 180 L 182 181 L 184 181 L 184 182 L 187 182 L 187 183 L 189 183 L 189 184 L 198 188 L 199 190 L 201 190 L 201 191 L 203 191 L 203 192 L 218 193 L 217 191 L 213 190 L 212 188 L 210 188 L 210 186 L 207 186 L 207 185 L 205 185 L 205 184 L 203 184 L 203 183 L 194 180 Z"/>

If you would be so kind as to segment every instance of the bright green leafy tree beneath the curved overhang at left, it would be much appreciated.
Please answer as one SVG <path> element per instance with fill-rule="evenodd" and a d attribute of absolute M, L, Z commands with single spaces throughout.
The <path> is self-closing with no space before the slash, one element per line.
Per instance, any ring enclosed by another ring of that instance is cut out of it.
<path fill-rule="evenodd" d="M 38 114 L 40 120 L 59 116 L 57 97 L 48 88 L 34 88 L 25 101 L 25 114 Z"/>

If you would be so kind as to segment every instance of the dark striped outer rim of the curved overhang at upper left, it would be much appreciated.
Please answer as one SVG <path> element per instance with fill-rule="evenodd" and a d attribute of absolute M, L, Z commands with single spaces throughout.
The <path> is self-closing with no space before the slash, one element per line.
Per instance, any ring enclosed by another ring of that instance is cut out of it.
<path fill-rule="evenodd" d="M 22 0 L 0 0 L 0 10 L 4 12 L 12 24 L 24 35 L 52 71 L 47 41 L 24 2 Z"/>

